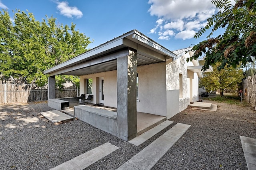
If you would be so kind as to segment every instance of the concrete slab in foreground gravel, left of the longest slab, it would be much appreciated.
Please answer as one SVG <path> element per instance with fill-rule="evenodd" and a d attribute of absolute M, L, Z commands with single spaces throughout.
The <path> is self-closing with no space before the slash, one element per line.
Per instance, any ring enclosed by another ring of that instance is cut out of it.
<path fill-rule="evenodd" d="M 83 170 L 117 149 L 117 146 L 107 142 L 98 146 L 97 148 L 89 150 L 84 154 L 81 154 L 67 162 L 64 162 L 63 164 L 56 166 L 51 170 Z"/>

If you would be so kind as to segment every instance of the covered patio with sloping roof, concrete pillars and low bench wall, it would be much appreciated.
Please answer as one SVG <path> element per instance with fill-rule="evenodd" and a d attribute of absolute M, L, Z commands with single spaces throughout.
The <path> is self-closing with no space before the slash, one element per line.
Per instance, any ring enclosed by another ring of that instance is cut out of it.
<path fill-rule="evenodd" d="M 148 130 L 145 128 L 148 124 L 157 125 L 158 118 L 166 120 L 166 60 L 173 61 L 175 58 L 176 55 L 170 50 L 132 30 L 44 71 L 49 75 L 48 106 L 51 107 L 51 103 L 56 101 L 55 75 L 78 75 L 80 95 L 92 94 L 92 103 L 104 103 L 104 107 L 74 106 L 74 116 L 123 140 L 130 140 Z M 136 87 L 138 67 L 142 82 L 140 99 Z M 143 74 L 151 76 L 150 79 Z M 93 82 L 92 93 L 88 93 L 87 89 L 89 78 Z M 146 88 L 142 88 L 143 85 Z M 153 100 L 148 100 L 150 98 Z M 105 106 L 116 110 L 108 111 Z"/>

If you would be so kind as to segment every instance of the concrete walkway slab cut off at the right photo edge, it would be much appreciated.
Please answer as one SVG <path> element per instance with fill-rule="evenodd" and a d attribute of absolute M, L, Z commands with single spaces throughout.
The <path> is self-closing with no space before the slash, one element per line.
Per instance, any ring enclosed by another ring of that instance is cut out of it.
<path fill-rule="evenodd" d="M 248 170 L 256 170 L 256 139 L 240 136 Z"/>

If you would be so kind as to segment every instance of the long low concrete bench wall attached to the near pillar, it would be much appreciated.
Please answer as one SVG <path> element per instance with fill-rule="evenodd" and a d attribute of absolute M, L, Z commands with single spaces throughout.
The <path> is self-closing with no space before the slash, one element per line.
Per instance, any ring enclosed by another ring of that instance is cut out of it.
<path fill-rule="evenodd" d="M 74 107 L 74 116 L 114 136 L 117 134 L 116 112 L 79 105 Z"/>

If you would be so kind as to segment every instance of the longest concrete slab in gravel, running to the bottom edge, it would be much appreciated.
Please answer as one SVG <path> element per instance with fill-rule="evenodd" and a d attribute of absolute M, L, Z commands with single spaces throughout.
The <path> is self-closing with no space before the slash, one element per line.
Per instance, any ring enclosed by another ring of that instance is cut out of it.
<path fill-rule="evenodd" d="M 190 125 L 177 123 L 154 142 L 124 163 L 118 170 L 149 170 L 188 130 Z"/>

